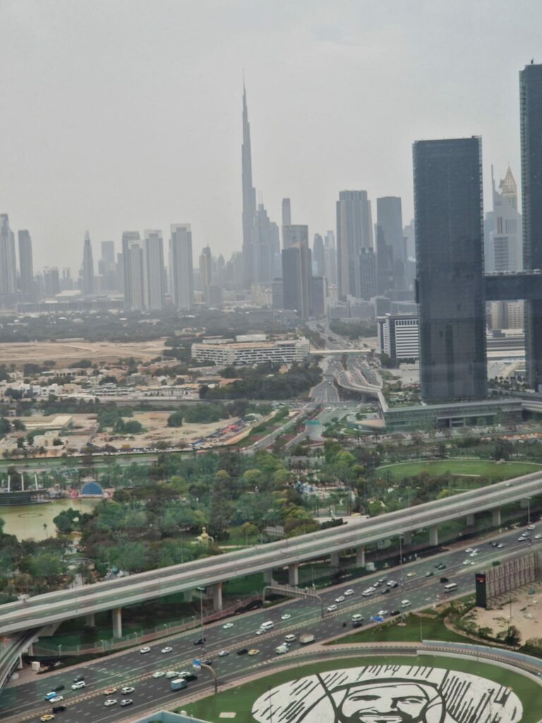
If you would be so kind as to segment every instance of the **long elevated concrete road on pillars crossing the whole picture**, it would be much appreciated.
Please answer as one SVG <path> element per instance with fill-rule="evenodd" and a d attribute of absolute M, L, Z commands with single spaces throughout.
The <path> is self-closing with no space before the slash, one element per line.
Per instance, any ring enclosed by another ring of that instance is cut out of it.
<path fill-rule="evenodd" d="M 541 493 L 542 474 L 537 472 L 356 524 L 137 573 L 119 580 L 37 595 L 1 606 L 0 634 L 19 633 L 71 617 L 112 610 L 113 630 L 120 636 L 121 608 L 126 605 L 190 591 L 197 586 L 213 586 L 215 608 L 220 609 L 225 580 L 262 571 L 270 577 L 273 568 L 288 566 L 290 583 L 297 584 L 297 568 L 301 562 L 330 556 L 332 564 L 336 565 L 340 552 L 346 549 L 356 549 L 358 566 L 363 567 L 367 544 L 397 535 L 408 541 L 413 531 L 429 527 L 429 541 L 436 545 L 438 527 L 444 522 L 461 517 L 472 521 L 476 513 L 491 510 L 494 526 L 499 526 L 503 505 Z"/>

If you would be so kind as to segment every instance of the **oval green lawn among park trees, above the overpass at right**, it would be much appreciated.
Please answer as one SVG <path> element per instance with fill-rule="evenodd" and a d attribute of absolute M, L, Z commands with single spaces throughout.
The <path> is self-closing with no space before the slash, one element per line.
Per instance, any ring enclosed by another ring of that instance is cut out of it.
<path fill-rule="evenodd" d="M 392 480 L 411 477 L 421 472 L 427 472 L 432 476 L 439 476 L 449 472 L 450 474 L 476 474 L 491 479 L 492 482 L 499 482 L 511 477 L 519 477 L 522 474 L 530 474 L 542 469 L 542 466 L 530 462 L 491 462 L 488 460 L 468 459 L 443 459 L 417 462 L 400 462 L 379 467 L 377 474 L 384 478 L 390 474 Z M 466 481 L 466 480 L 465 480 Z"/>

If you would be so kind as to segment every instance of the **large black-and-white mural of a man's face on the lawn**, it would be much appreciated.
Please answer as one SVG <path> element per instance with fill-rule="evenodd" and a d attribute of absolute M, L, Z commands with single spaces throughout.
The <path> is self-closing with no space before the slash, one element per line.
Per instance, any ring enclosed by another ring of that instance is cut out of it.
<path fill-rule="evenodd" d="M 290 680 L 260 696 L 258 723 L 520 723 L 509 688 L 470 673 L 368 665 Z"/>

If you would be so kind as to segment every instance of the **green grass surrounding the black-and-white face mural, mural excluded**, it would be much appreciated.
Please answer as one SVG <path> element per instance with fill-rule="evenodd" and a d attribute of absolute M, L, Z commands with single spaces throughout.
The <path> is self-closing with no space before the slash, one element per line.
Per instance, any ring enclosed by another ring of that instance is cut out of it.
<path fill-rule="evenodd" d="M 324 660 L 318 663 L 301 665 L 289 670 L 283 670 L 270 675 L 251 680 L 250 683 L 240 685 L 231 690 L 225 690 L 218 695 L 210 695 L 194 703 L 179 703 L 181 708 L 189 715 L 195 716 L 210 723 L 222 723 L 221 713 L 235 713 L 234 723 L 251 723 L 254 718 L 251 716 L 251 708 L 254 701 L 270 688 L 280 683 L 287 683 L 289 680 L 296 680 L 306 675 L 314 675 L 317 672 L 335 670 L 349 667 L 360 667 L 364 665 L 421 665 L 428 667 L 440 667 L 445 669 L 468 672 L 471 675 L 480 675 L 496 683 L 512 688 L 520 698 L 523 705 L 523 716 L 521 723 L 538 723 L 542 709 L 541 687 L 523 677 L 519 673 L 509 669 L 499 668 L 489 663 L 477 662 L 475 659 L 462 660 L 432 655 L 423 656 L 353 656 L 340 660 Z M 229 718 L 229 716 L 228 716 Z M 275 719 L 275 716 L 274 718 Z M 286 720 L 280 718 L 280 720 Z M 289 719 L 288 719 L 289 720 Z M 312 721 L 313 719 L 311 719 Z"/>

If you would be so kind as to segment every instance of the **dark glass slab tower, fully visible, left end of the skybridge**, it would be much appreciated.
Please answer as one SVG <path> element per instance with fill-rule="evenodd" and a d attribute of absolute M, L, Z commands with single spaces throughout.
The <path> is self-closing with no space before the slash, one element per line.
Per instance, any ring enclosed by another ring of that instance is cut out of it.
<path fill-rule="evenodd" d="M 413 147 L 421 394 L 486 395 L 481 139 Z"/>

